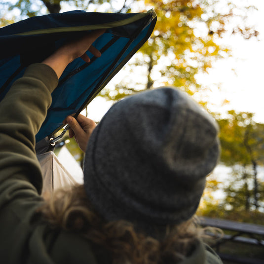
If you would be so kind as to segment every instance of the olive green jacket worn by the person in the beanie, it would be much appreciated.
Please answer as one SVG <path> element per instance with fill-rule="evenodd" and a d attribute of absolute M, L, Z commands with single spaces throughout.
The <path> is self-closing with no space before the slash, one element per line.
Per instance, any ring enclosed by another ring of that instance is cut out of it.
<path fill-rule="evenodd" d="M 49 226 L 36 209 L 42 176 L 35 135 L 58 84 L 45 64 L 33 64 L 0 102 L 0 262 L 4 264 L 107 264 L 107 251 L 81 236 Z M 198 241 L 183 264 L 220 264 Z"/>

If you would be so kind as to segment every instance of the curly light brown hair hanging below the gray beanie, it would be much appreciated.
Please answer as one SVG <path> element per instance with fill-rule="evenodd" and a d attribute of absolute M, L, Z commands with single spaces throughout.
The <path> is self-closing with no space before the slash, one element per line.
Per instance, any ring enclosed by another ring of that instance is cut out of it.
<path fill-rule="evenodd" d="M 163 239 L 137 232 L 127 221 L 106 222 L 92 208 L 83 185 L 55 191 L 39 211 L 52 226 L 79 233 L 107 249 L 115 264 L 176 264 L 204 235 L 193 219 L 168 226 Z"/>

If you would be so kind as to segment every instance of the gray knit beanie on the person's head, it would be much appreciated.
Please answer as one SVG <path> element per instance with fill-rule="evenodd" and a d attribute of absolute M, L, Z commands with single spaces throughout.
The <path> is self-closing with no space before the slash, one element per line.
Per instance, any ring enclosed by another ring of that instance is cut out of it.
<path fill-rule="evenodd" d="M 196 212 L 219 157 L 218 125 L 187 94 L 159 88 L 127 97 L 89 140 L 84 186 L 107 221 L 180 224 Z"/>

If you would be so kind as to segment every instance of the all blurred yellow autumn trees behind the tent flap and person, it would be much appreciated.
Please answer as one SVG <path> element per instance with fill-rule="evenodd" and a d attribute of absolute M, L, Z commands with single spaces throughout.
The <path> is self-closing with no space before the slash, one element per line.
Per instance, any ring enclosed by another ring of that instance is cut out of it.
<path fill-rule="evenodd" d="M 196 98 L 207 106 L 205 94 L 211 88 L 200 84 L 197 75 L 208 73 L 215 61 L 231 56 L 232 50 L 221 42 L 224 36 L 258 37 L 247 21 L 247 12 L 254 6 L 237 6 L 229 0 L 1 0 L 0 25 L 74 9 L 141 12 L 151 8 L 158 18 L 151 38 L 100 96 L 114 102 L 138 91 L 170 85 L 193 96 L 199 94 Z M 264 212 L 264 181 L 258 174 L 264 165 L 264 124 L 255 122 L 253 113 L 213 114 L 221 128 L 221 163 L 231 172 L 225 183 L 209 178 L 200 213 L 254 221 L 253 212 Z M 75 141 L 71 139 L 66 146 L 81 163 L 83 153 Z M 225 196 L 217 200 L 213 193 L 220 188 Z"/>

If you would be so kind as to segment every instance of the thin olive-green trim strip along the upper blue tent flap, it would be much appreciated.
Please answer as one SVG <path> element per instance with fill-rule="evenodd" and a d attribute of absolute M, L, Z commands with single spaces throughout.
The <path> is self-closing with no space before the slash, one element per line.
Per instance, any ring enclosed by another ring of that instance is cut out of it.
<path fill-rule="evenodd" d="M 37 34 L 51 34 L 51 33 L 59 33 L 59 32 L 72 32 L 72 31 L 87 31 L 87 30 L 96 30 L 96 29 L 110 29 L 120 26 L 125 26 L 127 24 L 133 23 L 141 18 L 152 15 L 152 18 L 156 17 L 156 13 L 153 9 L 149 10 L 145 13 L 140 13 L 134 15 L 132 17 L 126 18 L 124 20 L 114 21 L 111 23 L 97 24 L 97 25 L 86 25 L 79 27 L 65 27 L 65 28 L 51 28 L 51 29 L 41 29 L 41 30 L 32 30 L 29 32 L 22 32 L 18 34 L 14 34 L 11 36 L 28 36 L 28 35 L 37 35 Z"/>

